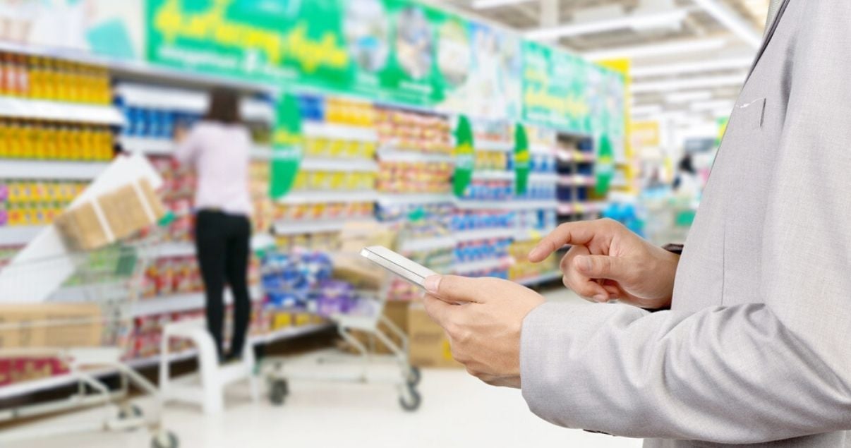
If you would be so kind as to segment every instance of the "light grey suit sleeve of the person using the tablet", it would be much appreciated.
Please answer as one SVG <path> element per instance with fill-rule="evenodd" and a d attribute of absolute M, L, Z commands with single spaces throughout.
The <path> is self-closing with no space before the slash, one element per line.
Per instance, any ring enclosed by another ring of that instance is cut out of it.
<path fill-rule="evenodd" d="M 808 14 L 791 49 L 754 303 L 652 314 L 545 303 L 521 343 L 535 414 L 729 444 L 851 428 L 851 3 L 808 3 Z"/>

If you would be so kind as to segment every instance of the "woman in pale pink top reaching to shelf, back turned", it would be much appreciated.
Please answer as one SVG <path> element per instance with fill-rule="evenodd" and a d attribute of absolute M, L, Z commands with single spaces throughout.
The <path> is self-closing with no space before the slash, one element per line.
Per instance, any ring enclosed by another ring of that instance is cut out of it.
<path fill-rule="evenodd" d="M 220 360 L 240 357 L 250 319 L 248 256 L 251 200 L 248 153 L 251 136 L 239 119 L 239 96 L 217 89 L 207 115 L 188 132 L 178 128 L 176 157 L 197 173 L 195 245 L 207 303 L 207 326 Z M 223 352 L 225 283 L 233 293 L 233 339 Z"/>

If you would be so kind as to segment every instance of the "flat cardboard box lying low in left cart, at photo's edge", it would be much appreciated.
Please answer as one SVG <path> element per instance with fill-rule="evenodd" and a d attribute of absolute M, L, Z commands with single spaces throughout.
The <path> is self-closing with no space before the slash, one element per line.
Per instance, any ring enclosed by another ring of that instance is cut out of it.
<path fill-rule="evenodd" d="M 0 350 L 100 346 L 97 303 L 0 303 Z"/>

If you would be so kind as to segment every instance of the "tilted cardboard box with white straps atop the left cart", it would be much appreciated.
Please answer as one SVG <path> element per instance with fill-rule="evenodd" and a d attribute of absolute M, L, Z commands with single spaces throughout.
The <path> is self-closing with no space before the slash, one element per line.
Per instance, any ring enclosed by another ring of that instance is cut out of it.
<path fill-rule="evenodd" d="M 151 184 L 140 179 L 62 213 L 56 227 L 69 246 L 91 250 L 126 238 L 163 214 L 163 203 Z"/>

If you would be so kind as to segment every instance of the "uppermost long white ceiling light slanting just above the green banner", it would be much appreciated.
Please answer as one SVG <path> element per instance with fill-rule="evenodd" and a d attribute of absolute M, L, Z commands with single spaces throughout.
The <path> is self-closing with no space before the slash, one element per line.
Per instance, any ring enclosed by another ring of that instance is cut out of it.
<path fill-rule="evenodd" d="M 625 28 L 653 28 L 669 26 L 682 22 L 688 16 L 687 9 L 674 9 L 655 14 L 624 15 L 605 20 L 584 23 L 565 24 L 551 28 L 541 28 L 526 33 L 529 39 L 554 39 L 557 37 L 580 36 L 601 31 L 622 30 Z"/>

